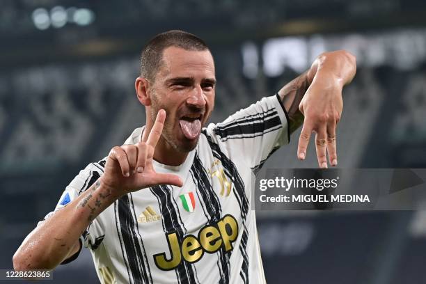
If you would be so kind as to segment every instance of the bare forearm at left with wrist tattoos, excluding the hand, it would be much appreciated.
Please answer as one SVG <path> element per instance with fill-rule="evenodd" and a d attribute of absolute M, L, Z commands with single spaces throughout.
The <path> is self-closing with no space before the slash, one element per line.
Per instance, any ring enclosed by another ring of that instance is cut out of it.
<path fill-rule="evenodd" d="M 53 269 L 68 258 L 88 224 L 119 196 L 98 180 L 35 228 L 13 256 L 16 270 Z"/>

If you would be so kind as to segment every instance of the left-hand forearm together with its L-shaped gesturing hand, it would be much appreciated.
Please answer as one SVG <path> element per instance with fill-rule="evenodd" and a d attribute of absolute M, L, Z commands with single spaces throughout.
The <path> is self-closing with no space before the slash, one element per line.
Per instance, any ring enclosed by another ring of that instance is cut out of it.
<path fill-rule="evenodd" d="M 155 145 L 161 136 L 165 119 L 166 112 L 161 109 L 146 141 L 111 150 L 100 180 L 42 221 L 24 239 L 13 255 L 15 270 L 54 269 L 63 260 L 70 258 L 79 251 L 79 236 L 88 224 L 128 192 L 156 184 L 182 187 L 178 175 L 156 173 L 152 166 Z"/>

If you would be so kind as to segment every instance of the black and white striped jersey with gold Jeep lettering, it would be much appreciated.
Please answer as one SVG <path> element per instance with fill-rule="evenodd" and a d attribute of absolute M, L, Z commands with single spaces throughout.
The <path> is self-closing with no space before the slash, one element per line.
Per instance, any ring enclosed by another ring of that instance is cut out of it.
<path fill-rule="evenodd" d="M 265 283 L 255 212 L 253 169 L 288 143 L 278 95 L 203 128 L 198 145 L 175 173 L 182 188 L 158 185 L 116 200 L 81 236 L 102 283 Z M 139 142 L 143 127 L 125 144 Z M 103 173 L 89 164 L 65 189 L 56 209 L 72 202 Z"/>

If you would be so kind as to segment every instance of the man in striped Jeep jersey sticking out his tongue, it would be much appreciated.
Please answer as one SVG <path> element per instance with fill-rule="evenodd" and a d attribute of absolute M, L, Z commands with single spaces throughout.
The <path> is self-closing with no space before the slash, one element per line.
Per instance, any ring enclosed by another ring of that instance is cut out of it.
<path fill-rule="evenodd" d="M 18 248 L 15 269 L 54 269 L 84 244 L 102 283 L 265 283 L 251 171 L 303 115 L 299 159 L 315 132 L 319 166 L 327 151 L 336 166 L 342 87 L 355 72 L 351 54 L 323 54 L 278 94 L 203 128 L 214 107 L 212 54 L 189 33 L 159 34 L 135 82 L 146 125 L 72 180 Z"/>

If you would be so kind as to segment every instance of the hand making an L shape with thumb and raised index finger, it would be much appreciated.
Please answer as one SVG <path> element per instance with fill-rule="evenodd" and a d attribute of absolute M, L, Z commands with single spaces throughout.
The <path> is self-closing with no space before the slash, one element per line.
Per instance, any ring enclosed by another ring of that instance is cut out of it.
<path fill-rule="evenodd" d="M 105 165 L 102 182 L 116 194 L 123 195 L 157 184 L 171 184 L 182 187 L 178 175 L 157 173 L 152 165 L 155 146 L 163 131 L 166 111 L 160 109 L 148 139 L 135 145 L 116 146 L 111 149 Z M 145 135 L 146 136 L 146 135 Z"/>

